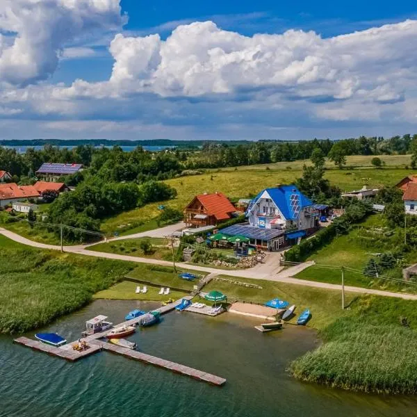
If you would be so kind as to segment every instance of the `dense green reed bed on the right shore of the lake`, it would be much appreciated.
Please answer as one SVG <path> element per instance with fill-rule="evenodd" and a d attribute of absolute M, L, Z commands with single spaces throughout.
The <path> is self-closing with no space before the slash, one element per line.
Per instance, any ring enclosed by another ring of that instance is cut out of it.
<path fill-rule="evenodd" d="M 381 298 L 366 297 L 352 318 L 327 326 L 325 343 L 295 360 L 291 373 L 352 391 L 417 393 L 415 303 Z"/>

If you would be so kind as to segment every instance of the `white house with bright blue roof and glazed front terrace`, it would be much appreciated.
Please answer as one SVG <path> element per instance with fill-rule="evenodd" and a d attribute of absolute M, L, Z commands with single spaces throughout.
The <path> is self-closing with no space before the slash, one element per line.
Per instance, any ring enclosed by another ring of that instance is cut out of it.
<path fill-rule="evenodd" d="M 318 228 L 319 211 L 294 185 L 265 188 L 250 202 L 249 224 L 222 229 L 223 234 L 243 235 L 250 244 L 276 251 L 295 243 Z"/>

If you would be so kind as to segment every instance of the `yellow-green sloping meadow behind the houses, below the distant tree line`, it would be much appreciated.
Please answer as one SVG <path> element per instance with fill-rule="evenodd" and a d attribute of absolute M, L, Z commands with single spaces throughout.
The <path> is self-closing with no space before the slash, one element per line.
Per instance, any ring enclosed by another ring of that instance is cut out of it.
<path fill-rule="evenodd" d="M 300 161 L 293 164 L 296 163 L 300 164 Z M 215 191 L 220 191 L 229 198 L 252 197 L 263 188 L 273 187 L 279 183 L 292 183 L 302 175 L 300 168 L 287 170 L 279 167 L 274 168 L 273 165 L 263 165 L 262 168 L 261 166 L 238 167 L 236 169 L 224 168 L 201 175 L 169 179 L 165 182 L 174 187 L 178 195 L 175 199 L 163 204 L 181 210 L 195 195 L 204 192 L 214 193 Z M 267 170 L 265 166 L 270 166 L 270 169 Z M 325 177 L 333 185 L 347 191 L 362 188 L 364 184 L 370 187 L 393 186 L 409 174 L 412 174 L 412 170 L 405 170 L 404 168 L 377 170 L 370 167 L 354 170 L 327 170 Z M 152 220 L 160 213 L 158 211 L 158 205 L 160 204 L 161 202 L 147 204 L 147 206 L 108 218 L 101 224 L 101 229 L 108 234 L 113 234 L 122 225 L 123 234 L 129 234 L 131 231 L 126 230 L 126 224 L 132 224 L 133 229 L 133 227 L 136 227 L 136 222 Z M 136 229 L 133 230 L 136 231 Z"/>

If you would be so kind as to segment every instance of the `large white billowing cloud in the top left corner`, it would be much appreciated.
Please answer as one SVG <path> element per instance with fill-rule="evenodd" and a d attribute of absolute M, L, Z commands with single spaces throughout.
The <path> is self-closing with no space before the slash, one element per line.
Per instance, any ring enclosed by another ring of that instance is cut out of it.
<path fill-rule="evenodd" d="M 0 35 L 0 81 L 47 79 L 67 42 L 122 22 L 119 0 L 1 0 L 0 32 L 8 36 Z"/>

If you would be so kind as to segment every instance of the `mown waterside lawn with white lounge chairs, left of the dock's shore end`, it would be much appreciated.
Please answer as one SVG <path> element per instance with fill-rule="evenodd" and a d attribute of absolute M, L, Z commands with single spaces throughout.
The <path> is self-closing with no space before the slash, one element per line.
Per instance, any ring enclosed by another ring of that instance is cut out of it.
<path fill-rule="evenodd" d="M 94 295 L 95 299 L 104 298 L 106 300 L 146 300 L 146 301 L 165 301 L 169 298 L 173 300 L 179 300 L 179 298 L 188 295 L 182 291 L 170 291 L 170 295 L 159 295 L 159 287 L 148 286 L 147 293 L 136 294 L 136 286 L 138 284 L 130 281 L 123 281 L 119 284 L 111 286 L 107 290 L 99 291 Z M 142 288 L 142 285 L 140 285 Z"/>

